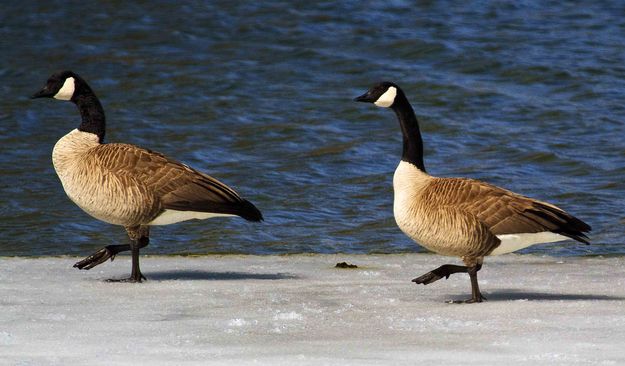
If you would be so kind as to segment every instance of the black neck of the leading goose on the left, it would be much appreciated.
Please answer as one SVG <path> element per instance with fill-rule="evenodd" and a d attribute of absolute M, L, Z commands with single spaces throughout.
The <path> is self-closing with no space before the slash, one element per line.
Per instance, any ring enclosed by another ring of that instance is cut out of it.
<path fill-rule="evenodd" d="M 106 130 L 104 109 L 89 86 L 83 84 L 76 87 L 79 89 L 74 93 L 72 102 L 76 103 L 82 117 L 82 123 L 78 126 L 78 130 L 97 135 L 100 143 L 103 143 Z"/>

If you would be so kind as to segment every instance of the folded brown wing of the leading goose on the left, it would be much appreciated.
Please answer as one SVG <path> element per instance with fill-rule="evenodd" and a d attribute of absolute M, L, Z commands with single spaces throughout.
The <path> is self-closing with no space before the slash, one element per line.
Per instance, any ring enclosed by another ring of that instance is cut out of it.
<path fill-rule="evenodd" d="M 96 153 L 100 166 L 116 176 L 134 180 L 152 193 L 163 209 L 262 220 L 260 211 L 232 188 L 163 154 L 127 144 L 103 144 Z"/>

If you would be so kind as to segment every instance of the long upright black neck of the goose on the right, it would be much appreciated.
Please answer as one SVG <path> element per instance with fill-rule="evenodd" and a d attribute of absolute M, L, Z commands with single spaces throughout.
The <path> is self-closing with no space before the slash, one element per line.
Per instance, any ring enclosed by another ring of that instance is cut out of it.
<path fill-rule="evenodd" d="M 415 165 L 419 170 L 425 172 L 423 164 L 423 140 L 419 131 L 419 122 L 412 110 L 412 106 L 403 93 L 398 93 L 393 103 L 392 109 L 397 114 L 401 132 L 404 138 L 404 146 L 401 160 Z"/>

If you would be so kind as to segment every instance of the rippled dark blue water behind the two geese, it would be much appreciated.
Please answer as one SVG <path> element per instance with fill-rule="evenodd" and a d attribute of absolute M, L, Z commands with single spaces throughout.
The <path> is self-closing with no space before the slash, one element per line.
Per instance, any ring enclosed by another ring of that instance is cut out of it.
<path fill-rule="evenodd" d="M 126 241 L 53 171 L 80 118 L 28 96 L 60 69 L 100 97 L 108 141 L 206 171 L 266 218 L 156 227 L 148 253 L 421 250 L 392 217 L 395 116 L 352 102 L 388 79 L 413 102 L 430 173 L 551 201 L 594 228 L 592 246 L 526 252 L 625 254 L 623 4 L 3 2 L 0 255 Z"/>

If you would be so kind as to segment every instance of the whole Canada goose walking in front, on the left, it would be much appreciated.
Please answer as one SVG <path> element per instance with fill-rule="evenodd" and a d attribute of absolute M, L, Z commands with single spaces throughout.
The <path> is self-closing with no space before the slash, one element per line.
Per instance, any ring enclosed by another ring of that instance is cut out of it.
<path fill-rule="evenodd" d="M 122 225 L 130 245 L 109 245 L 76 263 L 91 269 L 119 252 L 132 252 L 129 278 L 141 282 L 139 249 L 149 243 L 151 225 L 215 216 L 261 221 L 260 211 L 232 188 L 185 164 L 137 146 L 104 143 L 100 101 L 77 74 L 53 74 L 32 98 L 54 98 L 78 106 L 82 123 L 54 145 L 52 162 L 67 196 L 89 215 Z"/>

